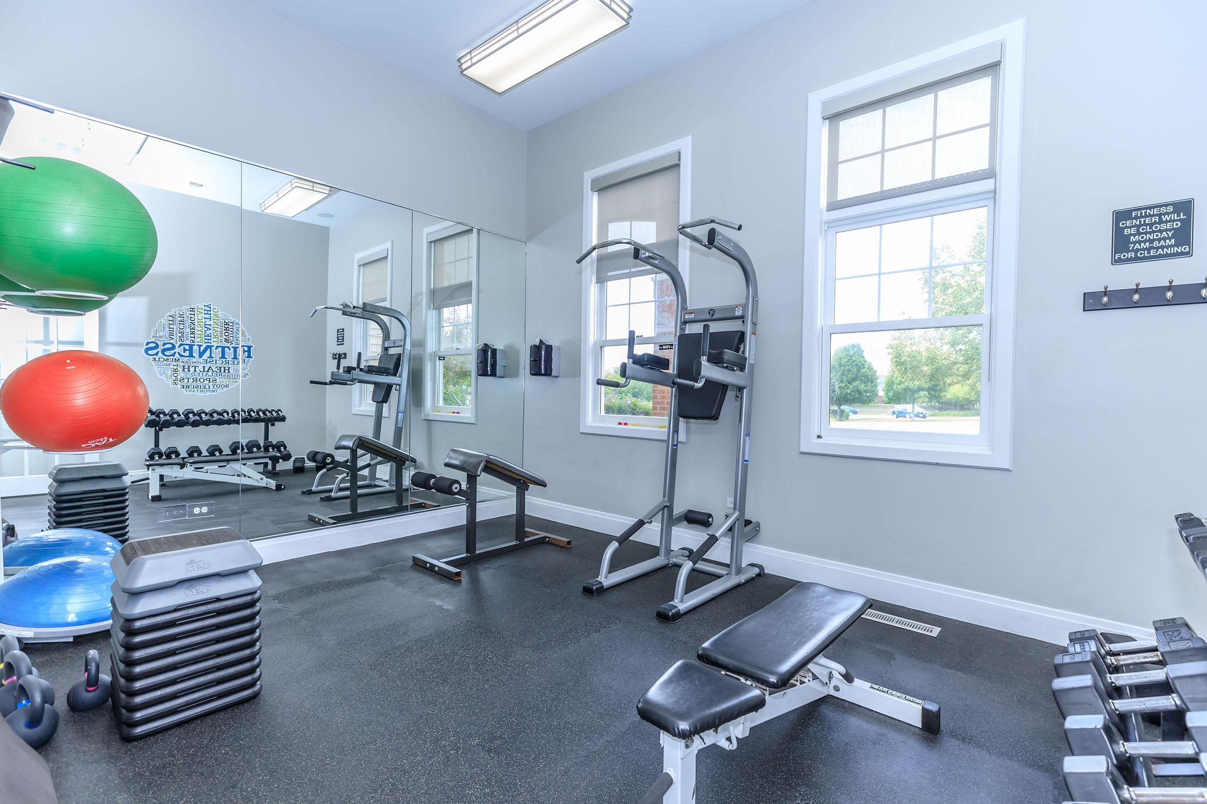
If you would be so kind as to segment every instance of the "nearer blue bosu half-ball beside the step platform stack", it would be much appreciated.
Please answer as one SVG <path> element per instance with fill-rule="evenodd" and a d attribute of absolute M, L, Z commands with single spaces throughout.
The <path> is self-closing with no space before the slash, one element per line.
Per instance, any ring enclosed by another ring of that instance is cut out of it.
<path fill-rule="evenodd" d="M 35 641 L 109 628 L 113 570 L 104 556 L 64 556 L 0 583 L 0 632 Z"/>

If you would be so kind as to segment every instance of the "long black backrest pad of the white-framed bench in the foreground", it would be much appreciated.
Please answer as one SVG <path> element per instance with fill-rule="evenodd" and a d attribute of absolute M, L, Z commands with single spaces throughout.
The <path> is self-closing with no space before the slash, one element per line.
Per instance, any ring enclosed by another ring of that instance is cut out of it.
<path fill-rule="evenodd" d="M 706 641 L 696 657 L 705 664 L 779 689 L 821 656 L 870 605 L 868 598 L 855 592 L 798 583 Z"/>

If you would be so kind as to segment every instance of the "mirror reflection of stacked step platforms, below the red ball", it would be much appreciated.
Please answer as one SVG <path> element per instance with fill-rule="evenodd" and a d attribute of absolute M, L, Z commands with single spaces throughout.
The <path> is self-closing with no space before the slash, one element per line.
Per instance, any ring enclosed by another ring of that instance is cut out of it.
<path fill-rule="evenodd" d="M 64 463 L 49 471 L 47 528 L 88 528 L 117 541 L 130 536 L 130 481 L 115 462 Z"/>

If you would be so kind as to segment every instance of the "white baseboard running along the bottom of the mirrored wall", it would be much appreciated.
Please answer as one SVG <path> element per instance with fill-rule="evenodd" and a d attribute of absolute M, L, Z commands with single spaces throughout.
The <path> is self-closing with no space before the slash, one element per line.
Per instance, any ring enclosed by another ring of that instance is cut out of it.
<path fill-rule="evenodd" d="M 513 513 L 515 513 L 514 497 L 497 500 L 480 500 L 478 503 L 479 521 L 494 520 Z M 260 551 L 260 556 L 264 559 L 266 564 L 273 564 L 292 558 L 316 556 L 337 550 L 348 550 L 349 547 L 362 547 L 379 541 L 415 536 L 463 524 L 465 505 L 448 505 L 402 516 L 385 517 L 383 520 L 366 520 L 365 522 L 336 524 L 330 528 L 287 533 L 282 536 L 257 539 L 251 544 L 256 545 L 256 550 Z"/>

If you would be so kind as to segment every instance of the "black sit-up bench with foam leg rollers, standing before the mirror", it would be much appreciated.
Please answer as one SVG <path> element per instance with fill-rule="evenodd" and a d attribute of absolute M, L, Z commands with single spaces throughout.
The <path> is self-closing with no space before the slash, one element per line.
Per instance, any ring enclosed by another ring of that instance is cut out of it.
<path fill-rule="evenodd" d="M 462 485 L 460 481 L 450 477 L 441 477 L 426 471 L 415 471 L 410 475 L 410 485 L 414 488 L 427 488 L 465 499 L 465 552 L 448 558 L 412 556 L 410 559 L 416 565 L 430 569 L 454 581 L 460 581 L 460 568 L 471 562 L 509 553 L 513 550 L 531 547 L 532 545 L 570 546 L 570 539 L 562 539 L 561 536 L 540 530 L 530 530 L 524 523 L 524 499 L 527 489 L 532 486 L 548 487 L 548 483 L 538 475 L 496 456 L 462 448 L 449 450 L 448 457 L 444 458 L 444 465 L 449 469 L 463 471 L 466 482 Z M 483 475 L 501 480 L 515 489 L 515 539 L 478 550 L 478 479 Z"/>

